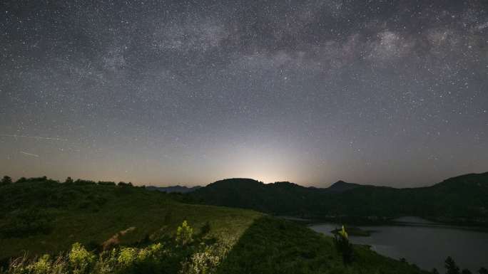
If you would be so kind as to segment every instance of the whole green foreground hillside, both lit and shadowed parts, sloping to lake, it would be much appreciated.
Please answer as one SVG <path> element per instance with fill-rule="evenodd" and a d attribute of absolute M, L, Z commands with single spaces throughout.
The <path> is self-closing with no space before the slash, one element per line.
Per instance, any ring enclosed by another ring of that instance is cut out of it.
<path fill-rule="evenodd" d="M 24 251 L 55 256 L 81 243 L 57 260 L 21 262 L 16 273 L 80 273 L 80 265 L 83 273 L 422 273 L 363 246 L 345 266 L 332 238 L 305 226 L 127 184 L 28 179 L 0 186 L 0 199 L 4 264 Z M 188 243 L 176 233 L 183 220 L 195 229 Z M 99 253 L 106 243 L 116 249 Z"/>

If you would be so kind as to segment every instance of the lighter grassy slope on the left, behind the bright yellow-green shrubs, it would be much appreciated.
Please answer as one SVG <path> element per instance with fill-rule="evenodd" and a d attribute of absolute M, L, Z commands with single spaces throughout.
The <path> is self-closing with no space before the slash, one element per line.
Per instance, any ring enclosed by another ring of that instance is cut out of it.
<path fill-rule="evenodd" d="M 134 246 L 146 238 L 172 236 L 183 220 L 195 233 L 208 222 L 211 236 L 233 242 L 261 216 L 255 211 L 182 204 L 158 191 L 98 184 L 16 183 L 0 188 L 0 200 L 0 260 L 4 261 L 24 252 L 56 254 L 75 242 L 91 248 L 131 227 L 136 229 L 123 236 L 121 244 Z M 47 219 L 49 233 L 2 236 L 1 228 L 24 218 L 23 211 L 41 212 L 39 218 Z"/>

